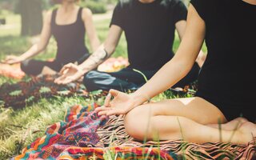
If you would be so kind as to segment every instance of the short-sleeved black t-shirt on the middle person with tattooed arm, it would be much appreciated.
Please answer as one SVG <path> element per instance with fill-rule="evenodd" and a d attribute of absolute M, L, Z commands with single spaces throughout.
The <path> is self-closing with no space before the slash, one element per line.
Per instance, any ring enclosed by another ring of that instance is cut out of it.
<path fill-rule="evenodd" d="M 125 32 L 130 67 L 158 70 L 173 58 L 175 23 L 186 20 L 186 14 L 179 0 L 120 0 L 110 25 Z"/>

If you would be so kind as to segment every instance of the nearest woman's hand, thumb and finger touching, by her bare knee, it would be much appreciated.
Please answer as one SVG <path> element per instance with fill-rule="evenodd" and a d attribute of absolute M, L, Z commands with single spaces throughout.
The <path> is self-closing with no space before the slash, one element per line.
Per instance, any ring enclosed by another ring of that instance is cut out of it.
<path fill-rule="evenodd" d="M 114 99 L 111 101 L 112 96 Z M 109 94 L 106 96 L 104 106 L 96 108 L 96 111 L 98 115 L 107 116 L 127 114 L 138 105 L 136 105 L 136 98 L 134 98 L 133 95 L 125 94 L 118 90 L 110 90 Z"/>

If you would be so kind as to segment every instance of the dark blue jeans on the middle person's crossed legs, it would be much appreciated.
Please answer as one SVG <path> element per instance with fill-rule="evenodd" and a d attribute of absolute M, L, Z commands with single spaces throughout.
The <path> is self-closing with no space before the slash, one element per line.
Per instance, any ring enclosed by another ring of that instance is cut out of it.
<path fill-rule="evenodd" d="M 194 64 L 190 73 L 186 75 L 185 78 L 182 78 L 174 87 L 184 87 L 190 82 L 194 82 L 198 79 L 200 67 L 198 64 Z M 153 77 L 153 75 L 158 70 L 140 70 L 146 76 L 147 79 Z M 138 90 L 143 84 L 145 84 L 146 80 L 143 78 L 142 74 L 135 72 L 131 68 L 125 68 L 118 72 L 106 73 L 100 71 L 90 71 L 88 72 L 84 79 L 83 83 L 86 86 L 86 89 L 89 91 L 93 90 Z"/>

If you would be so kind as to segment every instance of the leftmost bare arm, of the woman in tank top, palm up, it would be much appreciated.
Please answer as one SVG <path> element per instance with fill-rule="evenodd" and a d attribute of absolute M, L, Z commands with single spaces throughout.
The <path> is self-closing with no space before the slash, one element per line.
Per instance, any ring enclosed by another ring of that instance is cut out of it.
<path fill-rule="evenodd" d="M 49 42 L 50 35 L 51 35 L 51 28 L 50 28 L 50 20 L 51 20 L 51 11 L 46 14 L 46 17 L 44 18 L 43 26 L 42 26 L 42 32 L 40 35 L 40 41 L 32 46 L 30 50 L 27 50 L 24 54 L 20 55 L 19 57 L 16 56 L 8 56 L 5 60 L 8 64 L 14 64 L 18 62 L 22 62 L 26 60 L 27 58 L 31 58 L 36 54 L 39 54 L 42 52 L 42 50 L 46 49 L 46 46 Z"/>

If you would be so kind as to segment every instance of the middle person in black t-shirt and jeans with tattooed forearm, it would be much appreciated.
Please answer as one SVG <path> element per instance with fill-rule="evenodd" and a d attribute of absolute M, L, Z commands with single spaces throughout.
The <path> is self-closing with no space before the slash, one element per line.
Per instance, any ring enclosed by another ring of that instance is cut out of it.
<path fill-rule="evenodd" d="M 186 28 L 186 6 L 180 0 L 121 0 L 114 9 L 110 32 L 97 52 L 79 66 L 69 64 L 57 83 L 68 83 L 85 75 L 86 89 L 91 90 L 137 90 L 146 80 L 140 70 L 150 79 L 166 62 L 174 56 L 172 50 L 174 31 L 180 39 Z M 114 73 L 94 70 L 114 53 L 119 38 L 124 31 L 128 47 L 130 66 Z M 93 70 L 93 71 L 90 71 Z M 198 78 L 200 67 L 194 64 L 190 73 L 174 87 L 183 87 Z"/>

